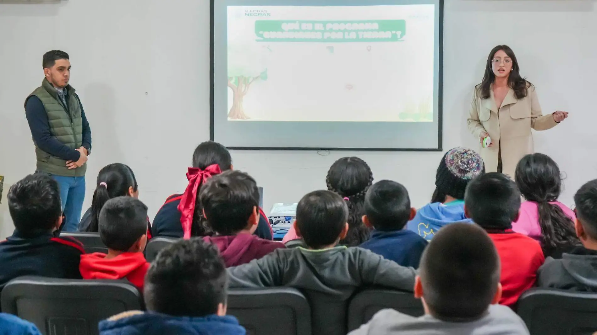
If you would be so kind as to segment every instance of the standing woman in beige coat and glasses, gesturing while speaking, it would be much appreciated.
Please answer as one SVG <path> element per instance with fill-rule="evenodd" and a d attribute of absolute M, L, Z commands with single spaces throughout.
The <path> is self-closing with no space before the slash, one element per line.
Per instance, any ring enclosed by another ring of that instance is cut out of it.
<path fill-rule="evenodd" d="M 535 86 L 519 73 L 518 61 L 507 45 L 498 45 L 487 58 L 485 75 L 475 86 L 467 120 L 470 132 L 483 142 L 480 154 L 487 172 L 503 172 L 514 177 L 518 161 L 533 153 L 531 128 L 544 131 L 568 117 L 565 111 L 541 114 Z"/>

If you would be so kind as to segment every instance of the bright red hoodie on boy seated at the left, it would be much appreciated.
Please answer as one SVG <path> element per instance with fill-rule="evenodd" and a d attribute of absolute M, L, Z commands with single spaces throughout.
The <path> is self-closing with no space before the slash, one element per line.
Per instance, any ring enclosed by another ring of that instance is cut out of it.
<path fill-rule="evenodd" d="M 139 290 L 143 290 L 147 269 L 149 263 L 141 252 L 124 252 L 110 259 L 101 252 L 88 253 L 81 255 L 79 263 L 83 279 L 127 279 Z"/>

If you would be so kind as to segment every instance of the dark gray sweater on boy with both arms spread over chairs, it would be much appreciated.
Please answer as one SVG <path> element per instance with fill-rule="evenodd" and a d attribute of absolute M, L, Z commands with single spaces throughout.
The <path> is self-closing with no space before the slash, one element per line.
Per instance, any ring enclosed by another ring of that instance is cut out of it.
<path fill-rule="evenodd" d="M 230 287 L 289 286 L 348 299 L 359 287 L 413 291 L 416 271 L 359 247 L 276 249 L 261 259 L 228 268 Z"/>

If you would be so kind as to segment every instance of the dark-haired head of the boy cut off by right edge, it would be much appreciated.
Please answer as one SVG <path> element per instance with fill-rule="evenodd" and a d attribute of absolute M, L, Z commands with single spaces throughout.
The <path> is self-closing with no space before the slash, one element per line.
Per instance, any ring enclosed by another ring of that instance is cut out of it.
<path fill-rule="evenodd" d="M 576 217 L 590 238 L 597 240 L 597 179 L 584 184 L 574 194 Z"/>

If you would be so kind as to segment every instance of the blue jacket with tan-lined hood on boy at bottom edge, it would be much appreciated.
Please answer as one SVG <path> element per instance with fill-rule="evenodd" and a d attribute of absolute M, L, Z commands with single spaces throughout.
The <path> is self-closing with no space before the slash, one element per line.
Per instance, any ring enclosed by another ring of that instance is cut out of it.
<path fill-rule="evenodd" d="M 235 317 L 173 317 L 130 311 L 100 322 L 100 335 L 246 335 Z"/>

